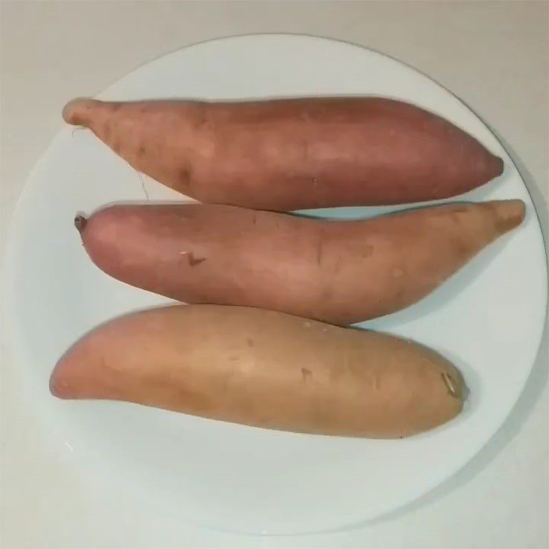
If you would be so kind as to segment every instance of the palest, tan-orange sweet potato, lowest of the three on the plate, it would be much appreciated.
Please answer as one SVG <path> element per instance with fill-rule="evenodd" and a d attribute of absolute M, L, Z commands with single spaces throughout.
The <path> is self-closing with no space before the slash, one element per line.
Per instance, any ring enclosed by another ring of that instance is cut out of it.
<path fill-rule="evenodd" d="M 441 355 L 274 311 L 176 305 L 118 318 L 51 375 L 64 399 L 130 401 L 259 427 L 397 438 L 455 417 L 465 386 Z"/>

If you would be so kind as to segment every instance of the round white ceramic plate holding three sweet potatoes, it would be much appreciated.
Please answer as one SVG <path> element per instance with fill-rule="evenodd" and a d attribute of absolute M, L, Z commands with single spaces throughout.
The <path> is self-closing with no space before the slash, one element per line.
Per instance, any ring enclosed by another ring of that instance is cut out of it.
<path fill-rule="evenodd" d="M 73 215 L 145 195 L 137 172 L 89 132 L 67 128 L 36 166 L 16 210 L 5 318 L 12 319 L 16 359 L 30 372 L 36 414 L 59 452 L 71 452 L 89 482 L 108 479 L 113 490 L 146 500 L 159 513 L 213 528 L 256 533 L 339 528 L 396 509 L 454 474 L 513 408 L 544 323 L 541 231 L 511 159 L 451 93 L 367 49 L 309 36 L 261 35 L 176 51 L 126 75 L 100 97 L 329 94 L 388 95 L 443 115 L 506 162 L 498 180 L 464 198 L 526 202 L 521 228 L 484 250 L 428 299 L 369 323 L 454 360 L 471 390 L 465 412 L 412 439 L 371 441 L 269 432 L 130 404 L 50 397 L 52 366 L 84 332 L 166 301 L 108 278 L 86 257 Z M 143 181 L 152 200 L 181 200 L 154 181 Z"/>

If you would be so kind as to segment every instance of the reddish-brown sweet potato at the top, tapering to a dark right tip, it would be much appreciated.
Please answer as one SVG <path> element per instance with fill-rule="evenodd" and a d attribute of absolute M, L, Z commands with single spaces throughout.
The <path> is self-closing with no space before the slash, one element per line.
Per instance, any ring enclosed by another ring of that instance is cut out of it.
<path fill-rule="evenodd" d="M 187 196 L 255 209 L 447 198 L 503 170 L 502 159 L 449 121 L 382 97 L 80 99 L 63 117 Z"/>

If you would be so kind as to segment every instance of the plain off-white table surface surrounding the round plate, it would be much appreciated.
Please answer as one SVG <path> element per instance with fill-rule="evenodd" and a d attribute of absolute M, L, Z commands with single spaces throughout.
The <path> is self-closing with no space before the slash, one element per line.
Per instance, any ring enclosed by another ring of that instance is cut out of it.
<path fill-rule="evenodd" d="M 500 136 L 547 241 L 547 1 L 1 1 L 1 242 L 25 179 L 61 128 L 65 100 L 217 36 L 296 32 L 378 49 L 454 91 Z M 75 182 L 78 184 L 78 182 Z M 9 323 L 9 318 L 3 318 Z M 1 344 L 0 546 L 16 548 L 526 548 L 549 546 L 547 330 L 526 390 L 454 478 L 374 524 L 329 535 L 236 537 L 143 515 L 50 452 Z"/>

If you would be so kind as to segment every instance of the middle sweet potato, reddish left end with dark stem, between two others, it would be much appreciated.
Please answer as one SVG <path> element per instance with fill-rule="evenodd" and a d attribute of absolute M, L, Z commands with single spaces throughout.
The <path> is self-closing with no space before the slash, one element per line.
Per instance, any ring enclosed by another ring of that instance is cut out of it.
<path fill-rule="evenodd" d="M 523 218 L 521 200 L 502 200 L 360 221 L 119 205 L 76 222 L 95 264 L 139 288 L 344 325 L 419 301 Z"/>

